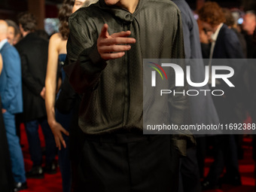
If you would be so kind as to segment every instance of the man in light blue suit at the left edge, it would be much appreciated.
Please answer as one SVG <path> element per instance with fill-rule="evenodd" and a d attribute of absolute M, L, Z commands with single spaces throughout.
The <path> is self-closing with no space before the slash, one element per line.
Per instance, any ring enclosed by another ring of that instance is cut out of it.
<path fill-rule="evenodd" d="M 8 43 L 7 35 L 8 24 L 4 20 L 0 20 L 0 53 L 3 60 L 0 96 L 2 97 L 2 114 L 11 156 L 11 169 L 15 181 L 15 191 L 17 191 L 27 188 L 23 153 L 20 148 L 20 139 L 16 135 L 14 119 L 14 114 L 23 111 L 21 66 L 19 53 Z"/>

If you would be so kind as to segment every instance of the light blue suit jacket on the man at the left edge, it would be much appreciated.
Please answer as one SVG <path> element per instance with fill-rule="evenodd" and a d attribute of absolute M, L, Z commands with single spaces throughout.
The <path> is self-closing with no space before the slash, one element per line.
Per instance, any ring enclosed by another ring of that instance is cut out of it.
<path fill-rule="evenodd" d="M 23 111 L 20 55 L 8 42 L 0 50 L 3 69 L 0 76 L 2 108 L 11 114 Z"/>

